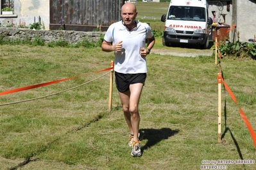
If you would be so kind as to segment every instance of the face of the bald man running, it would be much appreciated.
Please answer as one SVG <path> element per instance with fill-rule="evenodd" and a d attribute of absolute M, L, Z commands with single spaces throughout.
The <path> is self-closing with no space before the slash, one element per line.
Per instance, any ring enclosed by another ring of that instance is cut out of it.
<path fill-rule="evenodd" d="M 137 17 L 137 12 L 135 11 L 135 8 L 133 8 L 133 6 L 125 6 L 124 8 L 122 8 L 121 16 L 125 26 L 132 26 Z"/>

